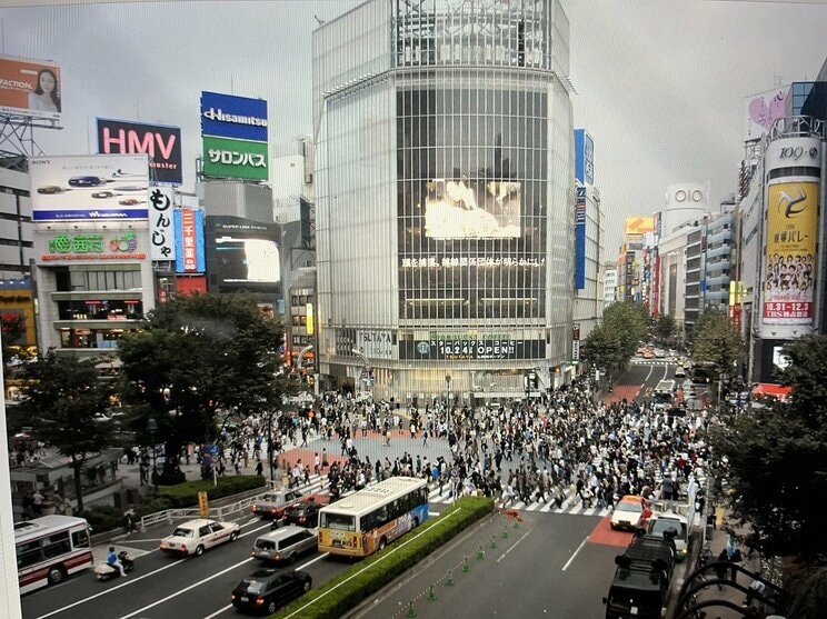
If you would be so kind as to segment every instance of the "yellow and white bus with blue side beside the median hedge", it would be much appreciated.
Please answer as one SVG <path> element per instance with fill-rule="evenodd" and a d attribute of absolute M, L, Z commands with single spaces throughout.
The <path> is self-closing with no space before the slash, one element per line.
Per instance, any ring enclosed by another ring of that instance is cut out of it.
<path fill-rule="evenodd" d="M 428 519 L 425 479 L 391 477 L 319 512 L 319 550 L 367 557 Z"/>

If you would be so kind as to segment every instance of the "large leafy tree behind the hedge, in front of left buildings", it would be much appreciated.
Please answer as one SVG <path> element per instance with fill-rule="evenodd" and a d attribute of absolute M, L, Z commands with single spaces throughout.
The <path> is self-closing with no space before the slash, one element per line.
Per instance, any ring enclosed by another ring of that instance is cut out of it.
<path fill-rule="evenodd" d="M 219 413 L 226 422 L 280 406 L 282 340 L 280 322 L 265 317 L 249 294 L 173 299 L 151 312 L 141 331 L 123 338 L 121 393 L 137 411 L 136 430 L 147 436 L 149 417 L 156 419 L 166 479 L 180 478 L 185 445 L 217 438 Z"/>

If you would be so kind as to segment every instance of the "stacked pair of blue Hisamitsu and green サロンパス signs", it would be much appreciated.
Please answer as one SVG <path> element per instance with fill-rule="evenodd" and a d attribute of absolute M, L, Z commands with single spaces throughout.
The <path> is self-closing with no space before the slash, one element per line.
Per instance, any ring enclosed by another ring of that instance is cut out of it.
<path fill-rule="evenodd" d="M 201 92 L 203 174 L 268 179 L 267 101 Z"/>

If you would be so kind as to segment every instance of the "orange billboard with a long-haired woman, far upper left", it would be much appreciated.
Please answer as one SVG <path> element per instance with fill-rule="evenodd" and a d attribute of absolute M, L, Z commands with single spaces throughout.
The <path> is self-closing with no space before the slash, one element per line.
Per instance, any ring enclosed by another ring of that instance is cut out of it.
<path fill-rule="evenodd" d="M 52 62 L 0 56 L 0 112 L 60 119 L 60 68 Z"/>

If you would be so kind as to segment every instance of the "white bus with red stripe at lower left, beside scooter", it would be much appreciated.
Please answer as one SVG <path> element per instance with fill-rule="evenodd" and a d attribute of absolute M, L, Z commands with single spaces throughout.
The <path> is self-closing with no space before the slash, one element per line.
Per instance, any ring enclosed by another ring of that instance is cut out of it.
<path fill-rule="evenodd" d="M 72 516 L 42 516 L 14 523 L 20 592 L 56 585 L 91 568 L 89 522 Z"/>

